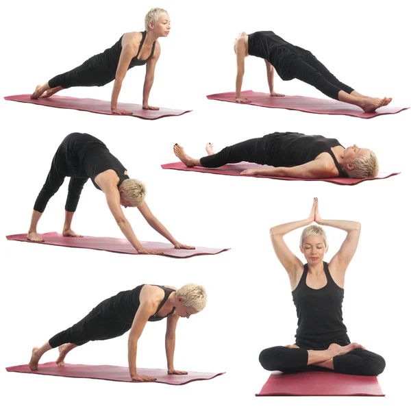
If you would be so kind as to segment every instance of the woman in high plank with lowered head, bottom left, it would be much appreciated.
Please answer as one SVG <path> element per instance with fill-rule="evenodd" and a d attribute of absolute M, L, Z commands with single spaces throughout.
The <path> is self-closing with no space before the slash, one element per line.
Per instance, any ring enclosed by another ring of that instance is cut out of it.
<path fill-rule="evenodd" d="M 130 330 L 128 339 L 128 362 L 133 381 L 155 381 L 153 377 L 137 373 L 137 343 L 147 321 L 167 318 L 166 357 L 169 374 L 187 374 L 174 368 L 175 327 L 180 317 L 190 318 L 206 306 L 206 290 L 197 284 L 186 284 L 182 288 L 142 284 L 133 290 L 121 291 L 105 299 L 93 308 L 81 321 L 65 331 L 55 334 L 40 348 L 34 347 L 29 367 L 38 369 L 42 355 L 58 347 L 58 366 L 64 366 L 67 353 L 89 341 L 109 340 L 122 336 Z"/>

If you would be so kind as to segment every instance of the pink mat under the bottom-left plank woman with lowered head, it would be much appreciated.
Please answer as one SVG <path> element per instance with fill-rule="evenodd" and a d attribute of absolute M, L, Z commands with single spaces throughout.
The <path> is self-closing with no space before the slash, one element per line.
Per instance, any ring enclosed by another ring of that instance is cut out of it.
<path fill-rule="evenodd" d="M 13 373 L 28 373 L 40 375 L 54 375 L 56 377 L 74 377 L 74 378 L 94 378 L 108 379 L 110 381 L 134 382 L 130 378 L 129 369 L 125 366 L 113 365 L 83 365 L 83 364 L 67 364 L 65 366 L 57 366 L 55 362 L 46 362 L 39 364 L 37 371 L 29 369 L 28 364 L 8 366 L 7 371 Z M 139 374 L 148 375 L 149 377 L 157 378 L 156 382 L 171 385 L 183 385 L 192 381 L 201 379 L 212 379 L 217 375 L 224 373 L 197 373 L 188 371 L 187 375 L 168 375 L 166 370 L 160 369 L 138 369 Z"/>

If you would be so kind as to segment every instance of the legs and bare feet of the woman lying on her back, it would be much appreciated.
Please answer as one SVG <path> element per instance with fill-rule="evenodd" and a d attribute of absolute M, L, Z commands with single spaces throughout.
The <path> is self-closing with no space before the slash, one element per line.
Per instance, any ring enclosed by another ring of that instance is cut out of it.
<path fill-rule="evenodd" d="M 216 154 L 214 154 L 212 144 L 208 143 L 206 146 L 208 155 L 200 159 L 191 158 L 186 154 L 184 148 L 178 144 L 174 146 L 174 153 L 188 167 L 203 166 L 208 169 L 216 169 L 225 164 L 233 164 L 242 161 L 260 162 L 261 159 L 258 155 L 258 142 L 260 141 L 261 138 L 251 138 L 251 140 L 238 142 L 235 145 L 225 147 Z M 260 153 L 260 157 L 262 156 L 264 156 L 264 153 Z"/>

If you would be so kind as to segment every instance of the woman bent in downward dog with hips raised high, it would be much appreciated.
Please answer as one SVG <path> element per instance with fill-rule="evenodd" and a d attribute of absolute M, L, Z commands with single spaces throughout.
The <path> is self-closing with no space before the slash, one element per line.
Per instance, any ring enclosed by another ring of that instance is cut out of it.
<path fill-rule="evenodd" d="M 125 166 L 108 151 L 105 144 L 90 136 L 90 134 L 72 133 L 64 140 L 51 162 L 51 169 L 45 185 L 34 204 L 32 222 L 30 223 L 27 239 L 34 242 L 44 241 L 37 233 L 37 225 L 45 211 L 49 199 L 55 195 L 64 182 L 65 177 L 71 177 L 69 193 L 66 200 L 66 214 L 63 236 L 82 237 L 73 232 L 71 221 L 79 202 L 84 184 L 90 178 L 95 188 L 105 194 L 108 208 L 119 225 L 125 238 L 140 254 L 160 254 L 160 251 L 142 247 L 134 234 L 132 226 L 125 218 L 121 206 L 136 207 L 145 220 L 156 232 L 169 240 L 176 249 L 194 249 L 175 240 L 166 227 L 153 216 L 149 206 L 145 203 L 146 189 L 144 184 L 136 179 L 130 179 Z"/>

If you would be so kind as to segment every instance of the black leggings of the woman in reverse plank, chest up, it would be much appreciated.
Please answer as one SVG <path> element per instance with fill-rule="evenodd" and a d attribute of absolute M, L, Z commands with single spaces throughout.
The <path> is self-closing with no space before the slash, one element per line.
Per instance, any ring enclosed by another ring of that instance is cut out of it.
<path fill-rule="evenodd" d="M 338 100 L 340 90 L 348 94 L 354 90 L 341 83 L 310 51 L 305 51 L 299 55 L 292 54 L 289 59 L 288 74 L 291 78 L 314 86 L 331 99 Z"/>

